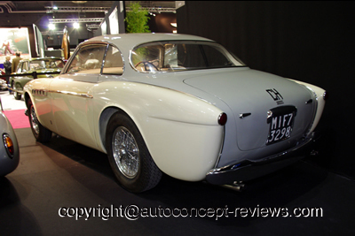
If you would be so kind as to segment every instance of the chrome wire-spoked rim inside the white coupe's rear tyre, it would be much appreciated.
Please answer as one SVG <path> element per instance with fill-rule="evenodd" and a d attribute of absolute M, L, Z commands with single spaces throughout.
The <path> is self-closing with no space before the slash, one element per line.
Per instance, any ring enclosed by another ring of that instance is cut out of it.
<path fill-rule="evenodd" d="M 136 177 L 139 168 L 139 149 L 133 134 L 123 126 L 116 128 L 112 145 L 118 169 L 129 179 Z"/>

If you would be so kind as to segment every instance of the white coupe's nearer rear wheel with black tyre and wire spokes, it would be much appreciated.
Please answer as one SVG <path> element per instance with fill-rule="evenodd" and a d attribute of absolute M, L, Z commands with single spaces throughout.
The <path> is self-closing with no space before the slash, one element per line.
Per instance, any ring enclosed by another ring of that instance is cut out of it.
<path fill-rule="evenodd" d="M 162 179 L 162 171 L 150 156 L 137 126 L 121 112 L 114 113 L 108 121 L 106 150 L 115 177 L 130 192 L 149 190 Z"/>

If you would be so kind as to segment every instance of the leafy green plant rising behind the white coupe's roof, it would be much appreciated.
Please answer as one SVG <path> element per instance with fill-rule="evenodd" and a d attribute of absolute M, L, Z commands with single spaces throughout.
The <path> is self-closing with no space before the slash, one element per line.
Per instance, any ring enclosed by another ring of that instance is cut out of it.
<path fill-rule="evenodd" d="M 141 5 L 138 2 L 132 2 L 129 5 L 131 11 L 127 11 L 126 18 L 127 22 L 127 33 L 150 33 L 149 26 L 147 25 L 148 11 L 142 10 Z"/>

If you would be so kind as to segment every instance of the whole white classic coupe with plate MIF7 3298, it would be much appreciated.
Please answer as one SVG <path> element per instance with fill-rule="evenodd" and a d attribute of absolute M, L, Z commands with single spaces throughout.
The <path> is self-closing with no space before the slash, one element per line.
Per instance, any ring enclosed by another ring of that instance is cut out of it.
<path fill-rule="evenodd" d="M 304 157 L 325 90 L 251 70 L 212 40 L 115 34 L 77 46 L 58 77 L 28 82 L 37 141 L 57 133 L 107 154 L 139 193 L 162 172 L 241 187 Z"/>

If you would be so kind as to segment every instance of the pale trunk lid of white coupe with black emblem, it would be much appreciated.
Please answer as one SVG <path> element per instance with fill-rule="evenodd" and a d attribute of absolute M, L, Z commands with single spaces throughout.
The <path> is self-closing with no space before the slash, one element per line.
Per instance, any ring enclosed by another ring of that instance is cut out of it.
<path fill-rule="evenodd" d="M 296 109 L 293 124 L 289 124 L 292 126 L 291 130 L 288 130 L 292 137 L 303 135 L 312 122 L 314 103 L 310 102 L 311 92 L 294 81 L 270 73 L 250 69 L 233 69 L 223 72 L 218 70 L 218 72 L 187 78 L 184 82 L 193 88 L 216 96 L 227 104 L 231 109 L 231 111 L 225 110 L 228 122 L 235 122 L 236 130 L 226 130 L 226 133 L 236 134 L 234 136 L 241 150 L 261 148 L 275 142 L 272 140 L 267 143 L 272 126 L 272 119 L 267 119 L 270 110 L 279 117 L 274 118 L 273 122 L 285 125 L 291 121 L 288 120 L 291 118 L 289 110 L 293 107 Z M 286 111 L 282 111 L 282 108 L 286 108 Z M 286 120 L 281 122 L 282 118 Z M 228 122 L 226 129 L 230 127 Z M 278 125 L 273 124 L 273 126 L 274 129 L 278 128 Z M 282 125 L 279 128 L 281 132 Z M 272 135 L 276 135 L 276 132 L 275 130 Z"/>

